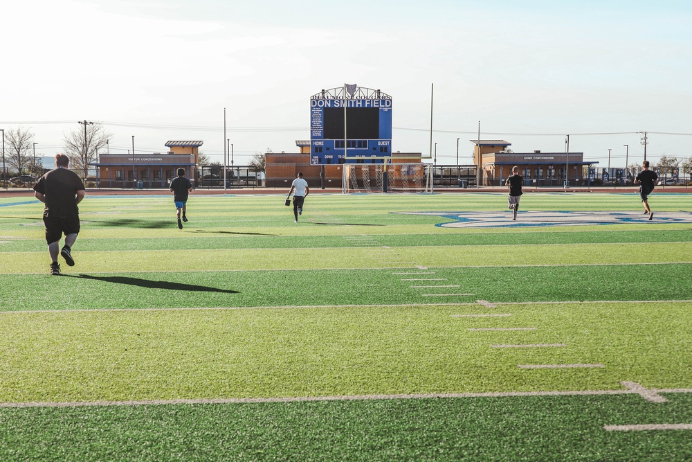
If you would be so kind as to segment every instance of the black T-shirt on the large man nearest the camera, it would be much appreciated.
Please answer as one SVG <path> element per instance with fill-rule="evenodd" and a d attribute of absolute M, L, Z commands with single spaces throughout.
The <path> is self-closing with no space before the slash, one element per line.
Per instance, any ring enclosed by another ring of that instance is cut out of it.
<path fill-rule="evenodd" d="M 40 177 L 34 190 L 46 196 L 44 216 L 51 218 L 78 217 L 77 191 L 84 190 L 82 179 L 72 170 L 55 168 Z"/>

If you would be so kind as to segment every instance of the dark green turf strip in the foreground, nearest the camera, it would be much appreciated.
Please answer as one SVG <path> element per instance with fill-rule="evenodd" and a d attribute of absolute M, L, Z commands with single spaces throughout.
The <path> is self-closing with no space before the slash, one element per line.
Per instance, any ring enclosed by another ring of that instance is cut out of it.
<path fill-rule="evenodd" d="M 692 459 L 692 395 L 428 398 L 0 409 L 0 459 L 141 461 L 613 461 Z M 42 438 L 32 439 L 35 429 Z"/>

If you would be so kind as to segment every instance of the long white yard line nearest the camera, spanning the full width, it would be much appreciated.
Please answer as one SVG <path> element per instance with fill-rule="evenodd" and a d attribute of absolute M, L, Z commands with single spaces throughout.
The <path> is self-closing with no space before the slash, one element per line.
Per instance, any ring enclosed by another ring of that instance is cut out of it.
<path fill-rule="evenodd" d="M 650 389 L 656 393 L 692 393 L 691 389 Z M 145 406 L 145 405 L 217 405 L 253 402 L 314 402 L 314 401 L 363 401 L 363 400 L 410 400 L 426 398 L 515 398 L 522 396 L 612 396 L 638 394 L 631 389 L 580 390 L 580 391 L 491 391 L 486 393 L 414 393 L 392 395 L 337 395 L 294 396 L 285 398 L 199 398 L 177 400 L 130 400 L 130 401 L 72 401 L 72 402 L 0 402 L 0 409 L 16 407 L 95 407 L 95 406 Z"/>

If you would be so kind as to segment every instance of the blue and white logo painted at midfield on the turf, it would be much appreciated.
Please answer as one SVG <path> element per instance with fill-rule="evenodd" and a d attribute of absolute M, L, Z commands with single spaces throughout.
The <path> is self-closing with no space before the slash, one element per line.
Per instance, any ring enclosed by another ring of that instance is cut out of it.
<path fill-rule="evenodd" d="M 401 215 L 430 215 L 450 222 L 441 228 L 522 228 L 535 226 L 586 226 L 632 223 L 692 223 L 689 212 L 654 212 L 653 220 L 639 212 L 605 211 L 519 211 L 512 220 L 511 211 L 503 212 L 394 212 Z"/>

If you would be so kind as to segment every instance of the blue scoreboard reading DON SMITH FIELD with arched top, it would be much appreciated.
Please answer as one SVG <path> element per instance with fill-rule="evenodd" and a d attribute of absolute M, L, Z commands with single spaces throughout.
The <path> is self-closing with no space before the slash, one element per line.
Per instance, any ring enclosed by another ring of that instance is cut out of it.
<path fill-rule="evenodd" d="M 383 163 L 392 155 L 392 98 L 342 87 L 310 98 L 310 163 Z"/>

